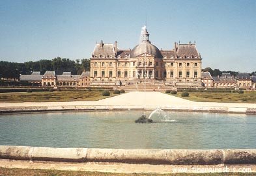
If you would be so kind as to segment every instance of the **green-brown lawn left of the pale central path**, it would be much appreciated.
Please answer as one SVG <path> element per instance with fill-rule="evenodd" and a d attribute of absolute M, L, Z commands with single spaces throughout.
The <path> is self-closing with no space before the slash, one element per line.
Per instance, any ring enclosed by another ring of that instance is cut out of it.
<path fill-rule="evenodd" d="M 110 97 L 113 96 L 111 92 Z M 50 101 L 96 101 L 104 99 L 102 92 L 62 91 L 62 92 L 23 92 L 0 94 L 0 102 L 50 102 Z"/>

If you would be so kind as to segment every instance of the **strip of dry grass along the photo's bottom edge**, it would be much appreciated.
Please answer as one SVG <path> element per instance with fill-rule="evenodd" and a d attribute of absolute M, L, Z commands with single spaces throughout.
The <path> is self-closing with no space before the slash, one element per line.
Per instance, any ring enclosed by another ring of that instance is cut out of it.
<path fill-rule="evenodd" d="M 3 175 L 12 175 L 12 176 L 18 176 L 18 175 L 26 175 L 26 176 L 55 176 L 55 175 L 89 175 L 89 176 L 111 176 L 111 175 L 117 175 L 117 176 L 142 176 L 142 175 L 148 175 L 148 176 L 238 176 L 238 175 L 249 175 L 253 176 L 255 173 L 173 173 L 173 174 L 142 174 L 142 173 L 101 173 L 101 172 L 88 172 L 88 171 L 57 171 L 57 170 L 27 170 L 27 169 L 8 169 L 8 168 L 0 168 L 0 176 Z"/>

